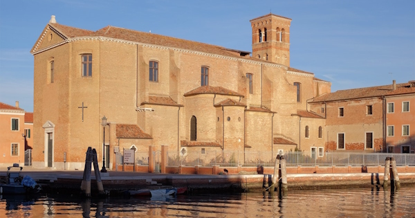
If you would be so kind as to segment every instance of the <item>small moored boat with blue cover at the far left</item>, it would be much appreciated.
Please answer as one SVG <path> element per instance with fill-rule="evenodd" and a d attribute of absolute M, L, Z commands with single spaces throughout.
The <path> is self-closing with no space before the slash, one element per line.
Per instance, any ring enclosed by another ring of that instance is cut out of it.
<path fill-rule="evenodd" d="M 41 190 L 40 185 L 37 185 L 30 176 L 22 177 L 20 175 L 21 170 L 23 170 L 23 167 L 20 167 L 17 163 L 7 167 L 6 183 L 0 184 L 1 194 L 32 194 Z"/>

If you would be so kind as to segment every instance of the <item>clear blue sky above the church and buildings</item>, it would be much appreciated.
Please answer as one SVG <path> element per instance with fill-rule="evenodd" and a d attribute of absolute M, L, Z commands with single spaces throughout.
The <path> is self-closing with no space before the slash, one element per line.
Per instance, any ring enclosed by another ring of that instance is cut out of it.
<path fill-rule="evenodd" d="M 0 0 L 0 102 L 33 111 L 35 44 L 50 19 L 98 30 L 118 26 L 252 51 L 250 19 L 291 21 L 291 67 L 331 90 L 415 80 L 415 1 Z"/>

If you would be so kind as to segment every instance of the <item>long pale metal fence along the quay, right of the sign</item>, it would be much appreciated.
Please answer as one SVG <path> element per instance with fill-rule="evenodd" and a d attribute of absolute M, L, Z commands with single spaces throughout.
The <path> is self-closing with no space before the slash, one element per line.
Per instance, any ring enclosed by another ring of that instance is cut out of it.
<path fill-rule="evenodd" d="M 187 165 L 203 166 L 220 165 L 224 167 L 242 166 L 274 166 L 276 153 L 271 152 L 240 152 L 240 151 L 216 151 L 216 152 L 187 152 L 178 155 L 176 152 L 167 153 L 169 166 Z M 377 166 L 385 165 L 387 157 L 394 157 L 396 165 L 415 166 L 415 154 L 396 153 L 344 153 L 344 152 L 285 152 L 287 166 Z"/>

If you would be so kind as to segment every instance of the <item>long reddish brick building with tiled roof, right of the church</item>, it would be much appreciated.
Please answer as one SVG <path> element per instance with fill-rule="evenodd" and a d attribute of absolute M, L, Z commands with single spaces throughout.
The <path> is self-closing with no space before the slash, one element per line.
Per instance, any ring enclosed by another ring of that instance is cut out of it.
<path fill-rule="evenodd" d="M 310 103 L 326 118 L 326 151 L 414 153 L 415 81 L 340 90 Z"/>

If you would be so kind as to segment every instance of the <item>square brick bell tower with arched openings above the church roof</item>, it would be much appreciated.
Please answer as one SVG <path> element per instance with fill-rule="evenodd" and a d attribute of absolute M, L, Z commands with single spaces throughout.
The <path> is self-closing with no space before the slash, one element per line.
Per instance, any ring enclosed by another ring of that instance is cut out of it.
<path fill-rule="evenodd" d="M 252 57 L 290 66 L 291 19 L 268 14 L 250 20 Z"/>

